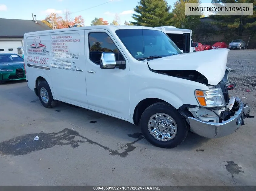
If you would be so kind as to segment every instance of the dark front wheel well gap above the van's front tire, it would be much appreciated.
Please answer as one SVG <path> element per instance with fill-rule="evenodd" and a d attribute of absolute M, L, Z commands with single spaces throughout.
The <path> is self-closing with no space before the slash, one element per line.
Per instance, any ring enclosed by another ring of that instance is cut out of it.
<path fill-rule="evenodd" d="M 161 102 L 164 100 L 158 99 L 158 98 L 147 98 L 145 100 L 141 100 L 140 103 L 135 107 L 134 113 L 133 113 L 133 123 L 135 125 L 139 125 L 139 121 L 141 119 L 142 113 L 147 109 L 149 106 L 151 106 L 153 103 Z"/>

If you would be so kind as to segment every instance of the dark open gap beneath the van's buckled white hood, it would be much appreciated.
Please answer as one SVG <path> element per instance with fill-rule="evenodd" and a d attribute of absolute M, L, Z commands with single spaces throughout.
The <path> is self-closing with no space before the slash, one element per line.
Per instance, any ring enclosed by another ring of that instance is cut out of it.
<path fill-rule="evenodd" d="M 152 70 L 159 74 L 169 75 L 176 78 L 182 78 L 186 80 L 195 81 L 201 84 L 208 84 L 207 78 L 204 77 L 201 73 L 195 70 L 171 70 L 171 71 L 162 71 L 162 70 Z"/>

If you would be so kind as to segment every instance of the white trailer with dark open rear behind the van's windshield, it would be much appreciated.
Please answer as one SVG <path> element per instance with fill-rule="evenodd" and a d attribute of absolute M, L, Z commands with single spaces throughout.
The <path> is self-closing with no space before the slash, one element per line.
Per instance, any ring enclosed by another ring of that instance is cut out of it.
<path fill-rule="evenodd" d="M 178 46 L 183 53 L 195 52 L 192 41 L 192 30 L 179 29 L 173 26 L 155 27 L 167 34 L 167 36 Z"/>

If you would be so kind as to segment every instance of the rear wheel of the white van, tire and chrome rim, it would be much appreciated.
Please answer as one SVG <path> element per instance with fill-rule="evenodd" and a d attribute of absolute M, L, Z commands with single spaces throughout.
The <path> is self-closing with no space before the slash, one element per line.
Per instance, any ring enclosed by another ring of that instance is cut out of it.
<path fill-rule="evenodd" d="M 38 90 L 39 99 L 44 107 L 52 108 L 57 105 L 58 101 L 53 99 L 52 92 L 47 81 L 40 81 L 40 83 L 38 84 L 37 90 Z"/>

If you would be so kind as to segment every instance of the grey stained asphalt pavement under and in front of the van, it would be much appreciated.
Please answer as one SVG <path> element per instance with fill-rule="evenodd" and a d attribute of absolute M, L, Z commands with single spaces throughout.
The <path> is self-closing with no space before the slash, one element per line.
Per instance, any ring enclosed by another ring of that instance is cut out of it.
<path fill-rule="evenodd" d="M 0 185 L 256 185 L 256 119 L 245 123 L 163 149 L 138 126 L 66 103 L 46 109 L 25 81 L 3 84 Z"/>

